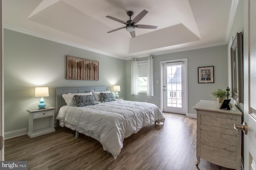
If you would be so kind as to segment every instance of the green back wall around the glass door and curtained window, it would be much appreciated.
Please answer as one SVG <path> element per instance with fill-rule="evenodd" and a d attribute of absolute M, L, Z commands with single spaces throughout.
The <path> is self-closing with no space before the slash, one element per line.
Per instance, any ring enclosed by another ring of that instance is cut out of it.
<path fill-rule="evenodd" d="M 182 51 L 154 56 L 154 96 L 146 94 L 130 94 L 130 69 L 131 60 L 126 61 L 126 99 L 139 102 L 154 103 L 160 107 L 160 62 L 174 59 L 188 59 L 188 113 L 196 114 L 192 107 L 200 100 L 212 100 L 210 92 L 215 88 L 228 86 L 228 61 L 227 45 Z M 214 66 L 214 83 L 198 83 L 198 67 Z M 158 84 L 156 83 L 158 80 Z"/>

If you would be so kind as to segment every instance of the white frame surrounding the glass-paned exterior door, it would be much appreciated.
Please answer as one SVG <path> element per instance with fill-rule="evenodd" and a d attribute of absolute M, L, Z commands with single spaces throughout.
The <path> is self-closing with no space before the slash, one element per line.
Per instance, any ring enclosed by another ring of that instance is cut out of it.
<path fill-rule="evenodd" d="M 174 63 L 174 62 L 184 62 L 184 65 L 186 66 L 186 104 L 185 104 L 185 110 L 186 110 L 186 116 L 188 116 L 188 58 L 184 59 L 174 59 L 174 60 L 166 60 L 166 61 L 160 61 L 160 110 L 163 111 L 163 65 L 166 63 Z"/>

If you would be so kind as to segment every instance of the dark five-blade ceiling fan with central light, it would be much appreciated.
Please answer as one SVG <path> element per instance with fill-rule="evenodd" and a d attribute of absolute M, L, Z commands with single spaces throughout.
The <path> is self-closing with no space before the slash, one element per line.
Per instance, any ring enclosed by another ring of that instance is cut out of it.
<path fill-rule="evenodd" d="M 152 26 L 152 25 L 140 25 L 140 24 L 137 24 L 135 25 L 138 21 L 140 21 L 144 16 L 146 16 L 146 14 L 148 14 L 148 11 L 146 10 L 143 10 L 142 12 L 140 12 L 140 14 L 138 14 L 133 20 L 131 20 L 131 16 L 133 15 L 133 12 L 132 11 L 128 11 L 127 12 L 127 15 L 130 17 L 130 20 L 128 21 L 122 21 L 122 20 L 118 20 L 114 17 L 111 17 L 111 16 L 106 16 L 107 18 L 110 18 L 111 20 L 115 20 L 115 21 L 118 21 L 120 23 L 124 23 L 126 24 L 125 27 L 120 27 L 120 28 L 117 28 L 117 29 L 114 29 L 112 31 L 108 31 L 108 33 L 112 33 L 114 31 L 118 31 L 120 29 L 124 29 L 126 28 L 127 31 L 130 32 L 132 38 L 136 37 L 135 35 L 135 31 L 134 29 L 135 28 L 143 28 L 143 29 L 156 29 L 157 26 Z"/>

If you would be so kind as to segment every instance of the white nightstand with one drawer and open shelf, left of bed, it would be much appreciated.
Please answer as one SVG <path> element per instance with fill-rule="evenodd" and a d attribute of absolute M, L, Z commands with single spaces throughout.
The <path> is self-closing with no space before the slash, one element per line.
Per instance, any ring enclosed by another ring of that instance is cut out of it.
<path fill-rule="evenodd" d="M 48 109 L 32 109 L 28 111 L 28 136 L 38 137 L 47 133 L 54 132 L 54 110 Z"/>

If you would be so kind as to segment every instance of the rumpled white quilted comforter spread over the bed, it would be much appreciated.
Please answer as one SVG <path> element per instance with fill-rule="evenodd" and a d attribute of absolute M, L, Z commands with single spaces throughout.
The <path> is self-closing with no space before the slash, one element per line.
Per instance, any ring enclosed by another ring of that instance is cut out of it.
<path fill-rule="evenodd" d="M 116 159 L 124 138 L 154 121 L 164 123 L 165 117 L 154 104 L 116 100 L 94 106 L 63 106 L 56 119 L 60 120 L 60 126 L 100 141 L 103 150 Z"/>

